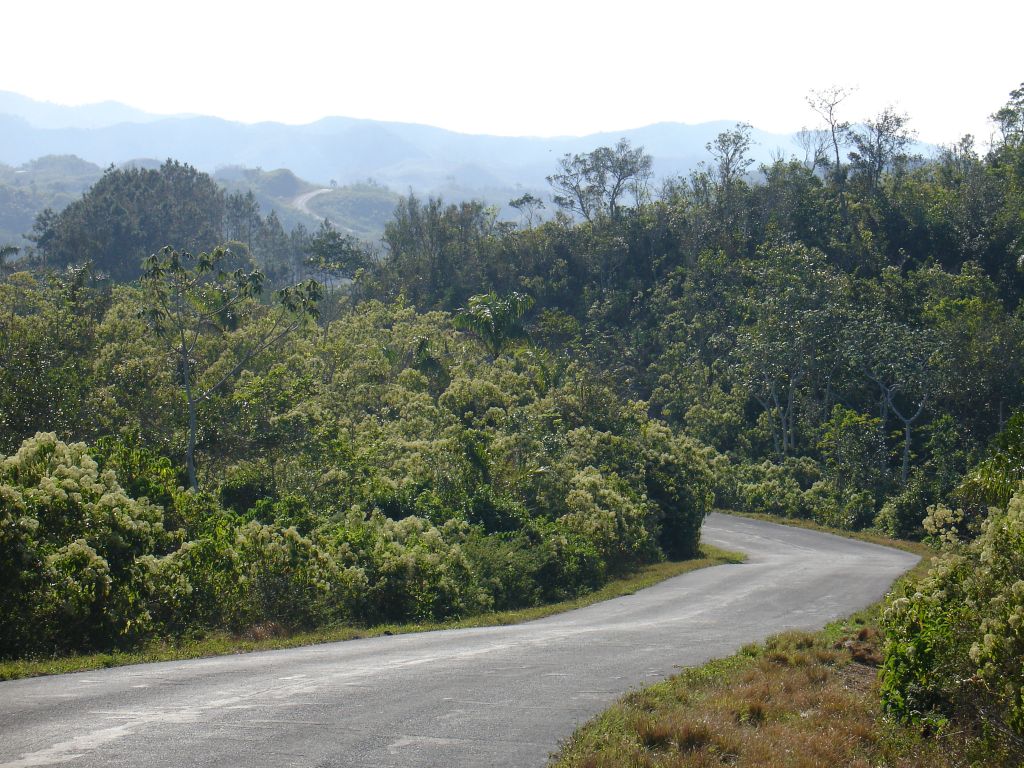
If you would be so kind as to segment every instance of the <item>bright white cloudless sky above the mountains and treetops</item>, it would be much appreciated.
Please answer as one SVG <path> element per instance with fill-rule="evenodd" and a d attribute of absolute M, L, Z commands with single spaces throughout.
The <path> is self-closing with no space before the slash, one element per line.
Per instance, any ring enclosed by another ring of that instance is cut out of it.
<path fill-rule="evenodd" d="M 1020 0 L 5 0 L 0 90 L 256 122 L 331 115 L 469 133 L 584 134 L 660 121 L 814 126 L 855 87 L 926 141 L 1024 81 Z"/>

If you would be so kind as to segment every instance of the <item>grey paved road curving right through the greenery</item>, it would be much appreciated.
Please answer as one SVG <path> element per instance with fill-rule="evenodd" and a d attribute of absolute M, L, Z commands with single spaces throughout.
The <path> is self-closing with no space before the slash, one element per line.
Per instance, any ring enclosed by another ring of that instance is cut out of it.
<path fill-rule="evenodd" d="M 712 515 L 740 565 L 514 627 L 0 683 L 0 766 L 543 766 L 631 686 L 878 599 L 915 558 Z"/>

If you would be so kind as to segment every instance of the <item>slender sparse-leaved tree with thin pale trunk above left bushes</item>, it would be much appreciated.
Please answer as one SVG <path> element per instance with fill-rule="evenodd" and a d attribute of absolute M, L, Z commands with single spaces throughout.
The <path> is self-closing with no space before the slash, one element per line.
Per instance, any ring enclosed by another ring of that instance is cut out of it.
<path fill-rule="evenodd" d="M 224 387 L 256 355 L 280 344 L 289 334 L 315 317 L 321 287 L 307 281 L 278 291 L 274 306 L 267 316 L 259 317 L 259 307 L 252 299 L 263 288 L 258 270 L 220 269 L 229 256 L 223 248 L 193 256 L 165 247 L 143 264 L 142 286 L 148 301 L 145 318 L 154 334 L 171 356 L 188 412 L 188 439 L 185 464 L 188 483 L 199 489 L 196 475 L 198 409 Z M 243 325 L 253 319 L 251 333 Z M 215 336 L 216 356 L 202 360 L 201 341 Z M 228 360 L 219 367 L 221 355 Z"/>

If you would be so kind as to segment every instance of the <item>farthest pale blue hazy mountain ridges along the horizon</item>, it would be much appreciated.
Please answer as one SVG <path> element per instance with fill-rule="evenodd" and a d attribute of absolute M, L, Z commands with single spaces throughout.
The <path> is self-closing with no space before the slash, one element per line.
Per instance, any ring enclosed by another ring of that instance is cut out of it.
<path fill-rule="evenodd" d="M 150 115 L 117 102 L 60 106 L 0 92 L 0 162 L 19 166 L 47 155 L 75 155 L 99 166 L 173 158 L 200 170 L 224 166 L 288 168 L 315 184 L 374 179 L 397 191 L 484 197 L 544 190 L 565 153 L 590 152 L 626 137 L 654 158 L 657 177 L 686 173 L 705 144 L 734 122 L 659 123 L 554 138 L 468 135 L 408 123 L 325 118 L 308 125 L 236 123 L 201 116 Z M 755 129 L 752 155 L 798 154 L 793 137 Z"/>

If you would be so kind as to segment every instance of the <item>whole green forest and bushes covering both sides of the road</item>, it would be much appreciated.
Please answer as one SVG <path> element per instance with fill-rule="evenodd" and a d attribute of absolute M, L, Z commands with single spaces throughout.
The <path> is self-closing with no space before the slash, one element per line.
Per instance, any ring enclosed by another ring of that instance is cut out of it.
<path fill-rule="evenodd" d="M 0 264 L 0 653 L 261 622 L 443 617 L 695 553 L 712 505 L 928 539 L 899 717 L 1024 739 L 1024 86 L 686 177 L 628 141 L 550 201 L 400 200 L 286 231 L 169 161 L 108 171 Z"/>

